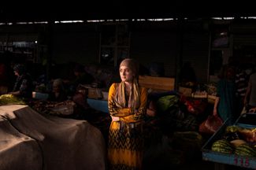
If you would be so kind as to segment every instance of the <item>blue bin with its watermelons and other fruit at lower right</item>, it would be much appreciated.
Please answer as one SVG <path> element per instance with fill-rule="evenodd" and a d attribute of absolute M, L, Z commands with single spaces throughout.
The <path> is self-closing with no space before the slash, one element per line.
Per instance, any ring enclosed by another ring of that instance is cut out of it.
<path fill-rule="evenodd" d="M 256 114 L 243 114 L 232 125 L 225 121 L 202 146 L 202 159 L 255 169 Z"/>

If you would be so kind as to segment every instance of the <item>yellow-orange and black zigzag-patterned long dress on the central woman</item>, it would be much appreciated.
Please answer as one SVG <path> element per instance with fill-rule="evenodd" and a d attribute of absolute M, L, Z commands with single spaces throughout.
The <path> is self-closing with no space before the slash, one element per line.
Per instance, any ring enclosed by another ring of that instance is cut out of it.
<path fill-rule="evenodd" d="M 115 94 L 119 83 L 109 88 L 109 113 L 119 118 L 112 121 L 109 127 L 109 170 L 141 169 L 143 159 L 143 117 L 147 107 L 147 89 L 139 87 L 138 113 L 131 108 L 118 107 Z M 128 98 L 128 96 L 125 96 Z M 126 99 L 127 101 L 127 99 Z M 126 102 L 126 105 L 127 102 Z"/>

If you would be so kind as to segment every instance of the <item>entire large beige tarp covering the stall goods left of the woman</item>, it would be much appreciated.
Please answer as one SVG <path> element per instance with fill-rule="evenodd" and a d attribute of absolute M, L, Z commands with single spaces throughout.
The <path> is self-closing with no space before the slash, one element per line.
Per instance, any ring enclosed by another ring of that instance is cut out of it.
<path fill-rule="evenodd" d="M 103 136 L 86 120 L 43 116 L 28 105 L 2 105 L 0 116 L 1 170 L 106 169 Z"/>

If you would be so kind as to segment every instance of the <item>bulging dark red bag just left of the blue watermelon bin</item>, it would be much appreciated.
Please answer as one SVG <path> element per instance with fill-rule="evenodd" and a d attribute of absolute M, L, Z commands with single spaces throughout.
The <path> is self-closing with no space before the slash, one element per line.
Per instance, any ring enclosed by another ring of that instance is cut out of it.
<path fill-rule="evenodd" d="M 199 132 L 206 134 L 214 134 L 223 124 L 223 120 L 219 116 L 208 116 L 199 126 Z"/>

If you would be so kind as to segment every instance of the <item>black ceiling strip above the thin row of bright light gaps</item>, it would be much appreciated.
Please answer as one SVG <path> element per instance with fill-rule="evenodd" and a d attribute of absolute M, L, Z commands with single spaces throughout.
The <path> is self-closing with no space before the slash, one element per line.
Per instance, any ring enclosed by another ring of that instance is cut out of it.
<path fill-rule="evenodd" d="M 225 3 L 224 3 L 225 2 Z M 242 3 L 243 2 L 243 3 Z M 1 22 L 46 20 L 99 20 L 99 19 L 148 19 L 169 17 L 247 17 L 256 16 L 250 2 L 210 0 L 195 2 L 148 1 L 143 2 L 79 2 L 52 4 L 34 2 L 0 6 Z M 41 3 L 41 4 L 40 4 Z"/>

